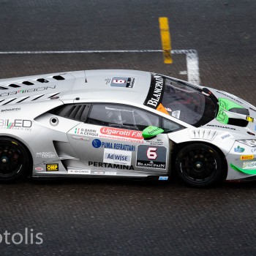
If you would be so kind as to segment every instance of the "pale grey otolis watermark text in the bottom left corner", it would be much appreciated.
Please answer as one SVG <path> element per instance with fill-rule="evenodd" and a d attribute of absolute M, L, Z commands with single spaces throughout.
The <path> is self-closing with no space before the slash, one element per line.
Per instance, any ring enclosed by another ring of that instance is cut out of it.
<path fill-rule="evenodd" d="M 34 230 L 28 227 L 25 228 L 24 233 L 10 233 L 5 230 L 0 233 L 0 244 L 42 244 L 42 233 L 34 233 Z"/>

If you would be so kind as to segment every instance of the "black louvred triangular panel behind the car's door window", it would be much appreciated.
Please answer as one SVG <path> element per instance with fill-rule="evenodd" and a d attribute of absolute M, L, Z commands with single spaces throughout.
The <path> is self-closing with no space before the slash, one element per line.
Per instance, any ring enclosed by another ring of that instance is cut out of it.
<path fill-rule="evenodd" d="M 50 113 L 56 116 L 85 122 L 89 113 L 90 104 L 68 104 L 61 105 L 58 108 L 50 110 Z"/>

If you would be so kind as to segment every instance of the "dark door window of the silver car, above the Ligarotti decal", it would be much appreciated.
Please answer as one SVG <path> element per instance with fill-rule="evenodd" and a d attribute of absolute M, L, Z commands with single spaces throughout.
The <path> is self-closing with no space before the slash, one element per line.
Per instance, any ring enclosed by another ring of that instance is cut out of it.
<path fill-rule="evenodd" d="M 134 107 L 112 104 L 93 105 L 87 122 L 89 124 L 141 131 L 149 125 L 159 127 L 159 117 L 157 115 Z"/>

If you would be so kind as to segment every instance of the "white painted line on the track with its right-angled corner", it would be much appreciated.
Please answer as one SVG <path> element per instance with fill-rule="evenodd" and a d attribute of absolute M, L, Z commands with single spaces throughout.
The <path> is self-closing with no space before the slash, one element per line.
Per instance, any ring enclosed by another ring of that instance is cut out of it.
<path fill-rule="evenodd" d="M 198 55 L 196 50 L 171 50 L 172 54 L 186 54 L 187 79 L 190 83 L 200 84 Z M 34 50 L 0 51 L 0 54 L 62 54 L 62 53 L 162 53 L 162 50 Z"/>

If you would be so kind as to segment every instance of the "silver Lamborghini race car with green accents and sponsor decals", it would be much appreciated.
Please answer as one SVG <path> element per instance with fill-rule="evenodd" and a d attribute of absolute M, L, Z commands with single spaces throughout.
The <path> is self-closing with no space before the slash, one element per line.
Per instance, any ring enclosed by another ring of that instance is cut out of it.
<path fill-rule="evenodd" d="M 0 83 L 0 181 L 256 177 L 256 108 L 225 91 L 133 70 Z"/>

